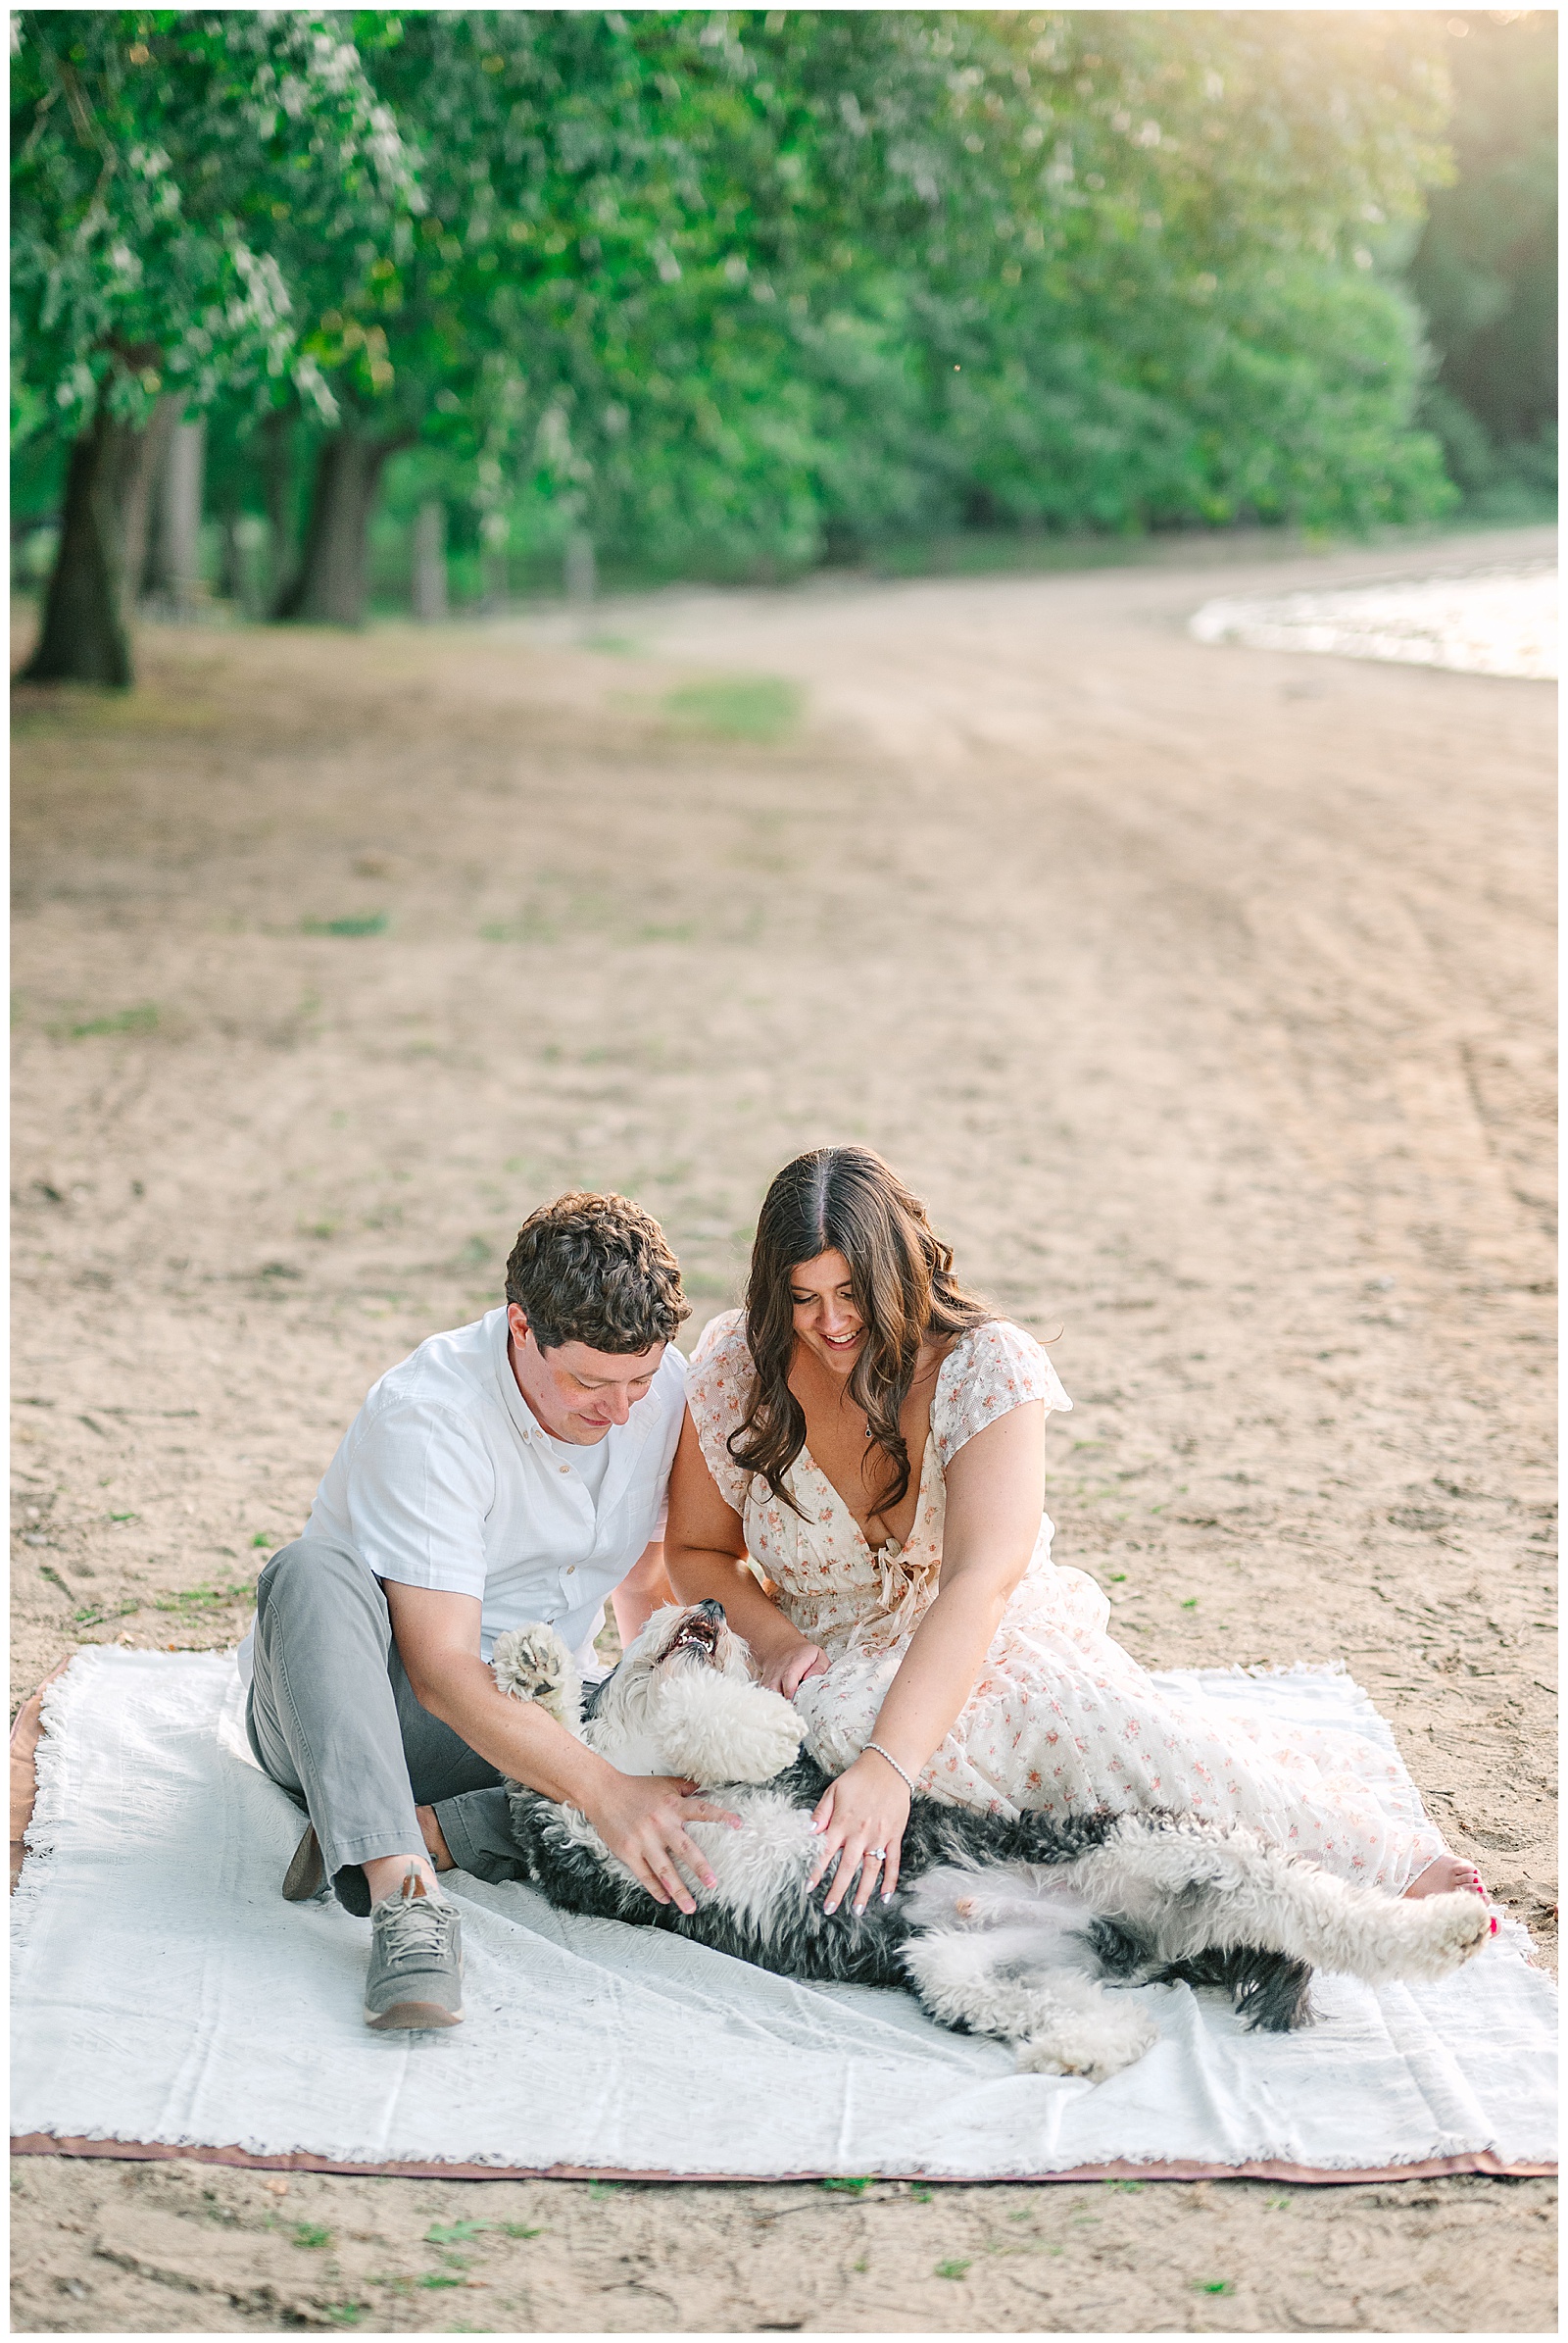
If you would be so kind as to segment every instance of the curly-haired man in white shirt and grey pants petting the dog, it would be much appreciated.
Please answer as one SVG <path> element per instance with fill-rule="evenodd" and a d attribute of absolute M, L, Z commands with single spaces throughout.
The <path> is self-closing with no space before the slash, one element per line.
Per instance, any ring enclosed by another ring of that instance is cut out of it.
<path fill-rule="evenodd" d="M 462 2020 L 462 1938 L 436 1870 L 511 1877 L 502 1778 L 588 1816 L 659 1903 L 713 1886 L 691 1783 L 619 1774 L 497 1692 L 495 1638 L 548 1621 L 593 1666 L 605 1596 L 623 1635 L 668 1600 L 663 1495 L 689 1317 L 663 1232 L 619 1195 L 530 1214 L 506 1303 L 431 1336 L 370 1389 L 305 1535 L 255 1586 L 246 1727 L 309 1813 L 284 1879 L 370 1917 L 366 2020 Z"/>

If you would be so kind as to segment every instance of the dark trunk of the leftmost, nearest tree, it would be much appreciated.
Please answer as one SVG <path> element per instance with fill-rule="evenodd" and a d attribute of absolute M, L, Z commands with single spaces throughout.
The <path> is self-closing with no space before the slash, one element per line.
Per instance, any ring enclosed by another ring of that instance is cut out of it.
<path fill-rule="evenodd" d="M 134 431 L 98 398 L 91 424 L 70 445 L 66 513 L 45 595 L 38 649 L 21 670 L 30 684 L 136 682 L 129 602 L 148 546 L 148 485 L 173 401 L 159 401 Z"/>

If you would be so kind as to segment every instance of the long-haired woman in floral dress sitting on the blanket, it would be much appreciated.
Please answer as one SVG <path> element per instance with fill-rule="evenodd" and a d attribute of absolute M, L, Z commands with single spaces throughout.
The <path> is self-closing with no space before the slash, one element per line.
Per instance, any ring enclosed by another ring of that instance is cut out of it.
<path fill-rule="evenodd" d="M 860 1912 L 893 1893 L 914 1785 L 1001 1813 L 1235 1818 L 1369 1886 L 1481 1893 L 1383 1750 L 1242 1727 L 1106 1635 L 1099 1586 L 1050 1560 L 1052 1408 L 1071 1401 L 1045 1352 L 963 1291 L 879 1155 L 785 1164 L 745 1310 L 696 1347 L 666 1560 L 682 1603 L 724 1603 L 837 1769 L 825 1907 L 855 1879 Z"/>

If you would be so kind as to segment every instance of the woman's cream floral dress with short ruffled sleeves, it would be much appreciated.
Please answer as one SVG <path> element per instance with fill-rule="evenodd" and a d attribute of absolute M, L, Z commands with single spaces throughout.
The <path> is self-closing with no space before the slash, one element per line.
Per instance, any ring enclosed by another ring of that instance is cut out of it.
<path fill-rule="evenodd" d="M 947 1467 L 987 1425 L 1043 1399 L 1071 1408 L 1057 1373 L 1020 1326 L 989 1319 L 942 1361 L 930 1401 L 919 1504 L 902 1546 L 872 1551 L 860 1523 L 809 1450 L 790 1467 L 799 1514 L 769 1500 L 727 1450 L 752 1387 L 738 1310 L 713 1319 L 691 1361 L 687 1403 L 720 1495 L 745 1523 L 752 1560 L 773 1579 L 790 1624 L 827 1654 L 795 1696 L 811 1755 L 841 1771 L 874 1736 L 877 1710 L 909 1635 L 938 1591 Z M 1439 1835 L 1388 1753 L 1357 1736 L 1240 1724 L 1200 1694 L 1153 1682 L 1106 1635 L 1111 1607 L 1083 1570 L 1050 1560 L 1041 1518 L 984 1671 L 921 1771 L 921 1790 L 991 1813 L 1085 1813 L 1165 1806 L 1242 1821 L 1345 1879 L 1402 1893 Z M 1378 1785 L 1373 1790 L 1373 1783 Z"/>

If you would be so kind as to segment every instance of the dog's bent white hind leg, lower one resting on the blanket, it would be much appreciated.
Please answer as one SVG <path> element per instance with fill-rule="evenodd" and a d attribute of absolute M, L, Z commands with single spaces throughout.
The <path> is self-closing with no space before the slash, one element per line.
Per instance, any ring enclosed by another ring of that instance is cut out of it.
<path fill-rule="evenodd" d="M 1027 2074 L 1083 2074 L 1092 2083 L 1132 2067 L 1160 2029 L 1092 1977 L 1041 1959 L 1031 1928 L 933 1928 L 902 1961 L 921 2006 L 947 2027 L 1015 2043 Z"/>

